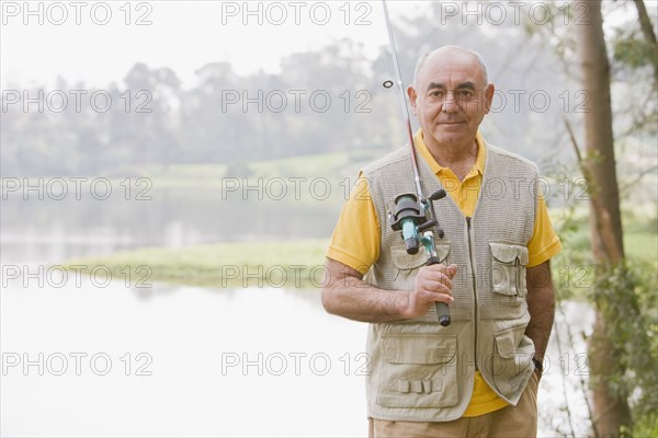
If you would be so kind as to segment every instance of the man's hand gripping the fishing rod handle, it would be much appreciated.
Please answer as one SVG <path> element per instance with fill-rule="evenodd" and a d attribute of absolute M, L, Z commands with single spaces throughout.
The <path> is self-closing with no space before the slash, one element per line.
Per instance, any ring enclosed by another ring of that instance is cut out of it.
<path fill-rule="evenodd" d="M 423 316 L 434 302 L 446 304 L 454 302 L 452 279 L 457 274 L 457 265 L 431 265 L 418 270 L 413 290 L 409 291 L 409 301 L 404 310 L 406 319 Z"/>

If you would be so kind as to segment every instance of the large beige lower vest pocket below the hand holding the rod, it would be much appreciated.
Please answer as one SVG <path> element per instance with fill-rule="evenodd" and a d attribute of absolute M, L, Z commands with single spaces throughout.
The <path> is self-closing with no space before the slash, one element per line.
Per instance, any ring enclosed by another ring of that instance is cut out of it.
<path fill-rule="evenodd" d="M 386 334 L 377 404 L 387 407 L 444 407 L 458 401 L 457 337 Z"/>

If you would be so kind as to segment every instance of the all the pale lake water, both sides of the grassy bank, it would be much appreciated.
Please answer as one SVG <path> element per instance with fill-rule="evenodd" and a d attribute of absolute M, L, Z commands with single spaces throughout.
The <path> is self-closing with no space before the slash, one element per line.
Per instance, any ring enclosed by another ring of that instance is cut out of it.
<path fill-rule="evenodd" d="M 326 314 L 317 290 L 48 277 L 49 264 L 70 257 L 235 239 L 240 218 L 222 215 L 220 203 L 164 199 L 149 208 L 3 203 L 0 434 L 366 436 L 366 324 Z M 328 235 L 338 214 L 269 208 L 250 212 L 242 238 Z M 564 309 L 540 389 L 546 437 L 589 428 L 580 332 L 592 313 Z"/>

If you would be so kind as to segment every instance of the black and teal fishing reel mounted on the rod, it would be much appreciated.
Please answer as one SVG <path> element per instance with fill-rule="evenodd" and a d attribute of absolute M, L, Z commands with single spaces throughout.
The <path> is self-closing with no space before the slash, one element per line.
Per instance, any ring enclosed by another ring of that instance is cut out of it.
<path fill-rule="evenodd" d="M 428 254 L 434 253 L 434 242 L 431 237 L 423 235 L 424 231 L 439 227 L 434 218 L 434 200 L 445 197 L 443 188 L 434 192 L 429 199 L 418 200 L 418 196 L 412 193 L 404 193 L 396 196 L 395 211 L 390 215 L 392 228 L 394 231 L 402 232 L 402 240 L 407 246 L 407 254 L 417 254 L 422 244 L 428 250 Z M 439 239 L 443 239 L 443 230 L 438 228 Z"/>

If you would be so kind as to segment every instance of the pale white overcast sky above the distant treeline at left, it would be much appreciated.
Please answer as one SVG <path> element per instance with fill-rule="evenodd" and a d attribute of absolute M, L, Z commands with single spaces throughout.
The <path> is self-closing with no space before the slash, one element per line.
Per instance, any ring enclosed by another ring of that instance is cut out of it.
<path fill-rule="evenodd" d="M 413 3 L 413 4 L 412 4 Z M 379 1 L 2 1 L 2 87 L 59 74 L 102 87 L 138 61 L 171 67 L 185 87 L 207 62 L 276 72 L 282 56 L 349 37 L 388 44 Z M 426 2 L 427 5 L 427 2 Z M 389 2 L 392 20 L 423 2 Z M 249 13 L 250 12 L 250 13 Z M 105 23 L 105 24 L 103 24 Z"/>

